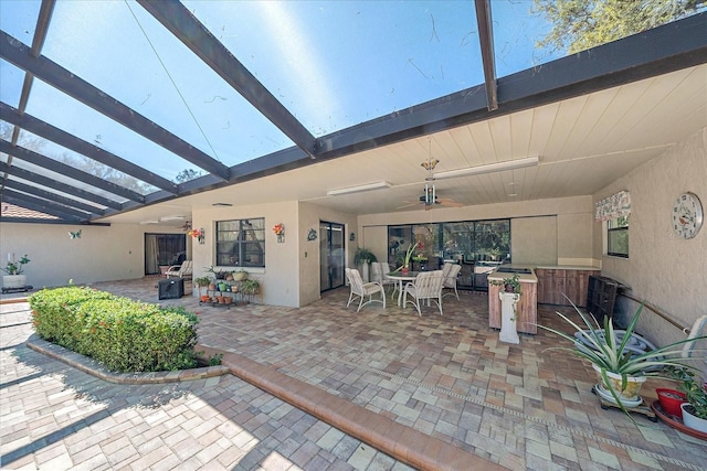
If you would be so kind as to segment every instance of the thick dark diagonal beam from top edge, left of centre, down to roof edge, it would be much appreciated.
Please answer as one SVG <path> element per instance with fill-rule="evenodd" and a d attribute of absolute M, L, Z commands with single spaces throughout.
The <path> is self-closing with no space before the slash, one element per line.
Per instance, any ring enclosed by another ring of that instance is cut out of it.
<path fill-rule="evenodd" d="M 173 0 L 138 0 L 138 3 L 283 131 L 297 147 L 309 157 L 316 157 L 317 139 L 191 14 L 187 7 Z"/>

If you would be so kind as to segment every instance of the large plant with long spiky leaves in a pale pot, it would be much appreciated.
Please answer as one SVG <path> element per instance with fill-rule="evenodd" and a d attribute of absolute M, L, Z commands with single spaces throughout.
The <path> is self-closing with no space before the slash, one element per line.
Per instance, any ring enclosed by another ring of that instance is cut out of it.
<path fill-rule="evenodd" d="M 639 392 L 647 377 L 669 378 L 669 370 L 666 370 L 669 367 L 697 371 L 696 367 L 687 363 L 696 358 L 682 358 L 674 355 L 680 353 L 682 345 L 707 339 L 707 336 L 680 340 L 647 352 L 636 351 L 629 346 L 629 341 L 635 331 L 643 304 L 636 310 L 623 335 L 618 335 L 614 332 L 614 327 L 608 315 L 604 317 L 604 329 L 602 330 L 591 314 L 583 313 L 573 303 L 572 306 L 582 319 L 585 329 L 580 328 L 577 322 L 561 312 L 557 314 L 576 330 L 574 334 L 568 334 L 546 325 L 538 327 L 570 341 L 573 345 L 571 347 L 550 350 L 570 351 L 580 358 L 589 360 L 600 377 L 600 384 L 597 386 L 603 387 L 604 394 L 601 394 L 601 389 L 597 390 L 597 387 L 595 390 L 604 399 L 616 404 L 622 410 L 626 411 L 626 407 L 637 406 L 642 403 Z"/>

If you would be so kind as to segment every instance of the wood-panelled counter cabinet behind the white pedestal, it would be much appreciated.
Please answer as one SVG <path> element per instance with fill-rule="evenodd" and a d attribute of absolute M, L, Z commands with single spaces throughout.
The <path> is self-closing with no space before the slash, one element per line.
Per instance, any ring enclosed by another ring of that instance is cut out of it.
<path fill-rule="evenodd" d="M 488 274 L 488 327 L 500 329 L 500 298 L 498 293 L 504 289 L 492 281 L 502 281 L 504 278 L 513 278 L 514 272 L 498 270 L 529 271 L 519 272 L 520 289 L 523 293 L 516 304 L 516 330 L 525 333 L 538 333 L 538 278 L 535 269 L 524 265 L 502 265 Z M 525 270 L 524 270 L 525 269 Z"/>

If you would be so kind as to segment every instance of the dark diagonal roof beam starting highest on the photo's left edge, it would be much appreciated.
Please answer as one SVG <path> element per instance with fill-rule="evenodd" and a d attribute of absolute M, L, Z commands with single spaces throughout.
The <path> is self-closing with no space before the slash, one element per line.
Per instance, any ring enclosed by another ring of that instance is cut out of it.
<path fill-rule="evenodd" d="M 229 168 L 223 163 L 43 55 L 33 57 L 31 50 L 27 45 L 4 31 L 0 31 L 0 42 L 2 43 L 0 57 L 207 172 L 213 173 L 223 180 L 229 180 Z"/>

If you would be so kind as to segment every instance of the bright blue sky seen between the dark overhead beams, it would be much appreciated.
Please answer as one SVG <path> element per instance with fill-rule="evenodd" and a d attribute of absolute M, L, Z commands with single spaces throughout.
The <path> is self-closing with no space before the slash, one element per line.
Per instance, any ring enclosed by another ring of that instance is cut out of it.
<path fill-rule="evenodd" d="M 30 44 L 39 3 L 0 0 L 0 26 Z M 472 1 L 183 3 L 315 136 L 483 83 Z M 555 58 L 531 3 L 492 2 L 499 76 Z M 293 146 L 133 1 L 57 1 L 43 54 L 226 165 Z M 3 101 L 22 78 L 0 63 Z M 27 113 L 168 179 L 193 168 L 40 81 Z"/>

